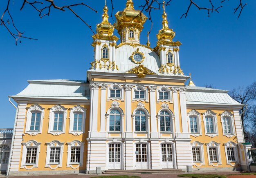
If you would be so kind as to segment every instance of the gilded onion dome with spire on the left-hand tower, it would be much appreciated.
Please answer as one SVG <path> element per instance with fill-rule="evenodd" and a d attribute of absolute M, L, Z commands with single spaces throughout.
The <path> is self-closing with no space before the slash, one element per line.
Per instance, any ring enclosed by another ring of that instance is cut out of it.
<path fill-rule="evenodd" d="M 102 15 L 102 22 L 100 24 L 97 24 L 96 31 L 99 35 L 103 36 L 112 36 L 114 32 L 114 27 L 110 22 L 108 22 L 108 7 L 103 7 L 103 15 Z"/>

